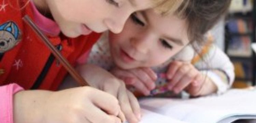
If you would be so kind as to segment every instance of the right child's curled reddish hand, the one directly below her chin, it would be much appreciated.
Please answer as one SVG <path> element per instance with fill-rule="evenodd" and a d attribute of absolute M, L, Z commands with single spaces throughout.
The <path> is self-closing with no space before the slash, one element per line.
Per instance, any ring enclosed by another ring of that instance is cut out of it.
<path fill-rule="evenodd" d="M 151 68 L 136 68 L 123 70 L 120 68 L 114 68 L 111 72 L 123 80 L 126 85 L 131 85 L 144 95 L 149 95 L 156 85 L 157 79 L 156 73 Z"/>

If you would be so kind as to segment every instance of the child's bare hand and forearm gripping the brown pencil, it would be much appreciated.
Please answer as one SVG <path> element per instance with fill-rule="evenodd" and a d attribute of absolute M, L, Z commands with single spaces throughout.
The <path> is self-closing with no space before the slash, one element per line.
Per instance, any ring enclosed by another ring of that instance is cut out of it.
<path fill-rule="evenodd" d="M 113 95 L 92 87 L 14 95 L 15 123 L 121 123 L 121 112 Z"/>

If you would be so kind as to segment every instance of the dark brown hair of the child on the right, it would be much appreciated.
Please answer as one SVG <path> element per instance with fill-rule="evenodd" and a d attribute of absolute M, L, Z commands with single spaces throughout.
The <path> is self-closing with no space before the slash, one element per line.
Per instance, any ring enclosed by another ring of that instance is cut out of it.
<path fill-rule="evenodd" d="M 203 42 L 204 34 L 224 15 L 231 0 L 184 0 L 175 14 L 186 19 L 188 38 Z"/>

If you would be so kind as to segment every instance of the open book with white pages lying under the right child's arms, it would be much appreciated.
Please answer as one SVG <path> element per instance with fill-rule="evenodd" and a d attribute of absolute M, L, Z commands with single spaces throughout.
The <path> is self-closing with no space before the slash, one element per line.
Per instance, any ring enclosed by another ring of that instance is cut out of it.
<path fill-rule="evenodd" d="M 195 99 L 141 99 L 140 123 L 230 123 L 256 119 L 256 89 L 231 89 Z"/>

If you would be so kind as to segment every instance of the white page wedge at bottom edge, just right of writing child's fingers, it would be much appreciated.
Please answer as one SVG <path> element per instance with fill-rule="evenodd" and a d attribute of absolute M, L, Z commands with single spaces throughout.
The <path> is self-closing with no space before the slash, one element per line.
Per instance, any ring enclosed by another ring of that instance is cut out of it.
<path fill-rule="evenodd" d="M 186 123 L 143 108 L 141 112 L 143 115 L 140 123 Z"/>

